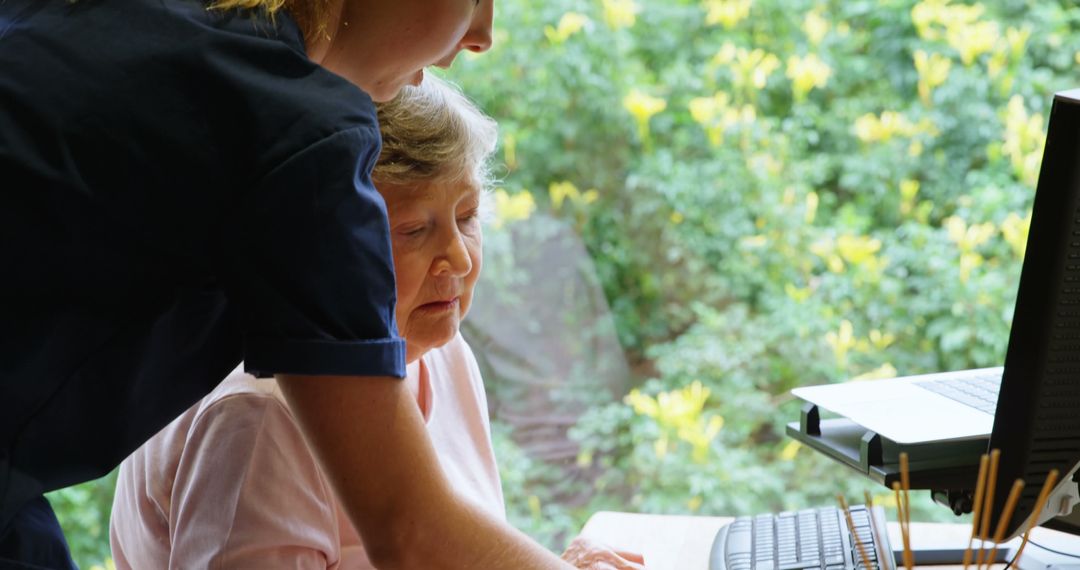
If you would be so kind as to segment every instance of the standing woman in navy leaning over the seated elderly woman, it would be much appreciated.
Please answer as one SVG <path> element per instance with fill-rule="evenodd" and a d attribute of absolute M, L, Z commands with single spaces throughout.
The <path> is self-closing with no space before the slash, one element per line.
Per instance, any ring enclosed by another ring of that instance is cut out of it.
<path fill-rule="evenodd" d="M 0 566 L 73 567 L 43 493 L 241 358 L 376 566 L 562 564 L 438 469 L 369 178 L 372 99 L 487 50 L 491 1 L 0 2 Z"/>

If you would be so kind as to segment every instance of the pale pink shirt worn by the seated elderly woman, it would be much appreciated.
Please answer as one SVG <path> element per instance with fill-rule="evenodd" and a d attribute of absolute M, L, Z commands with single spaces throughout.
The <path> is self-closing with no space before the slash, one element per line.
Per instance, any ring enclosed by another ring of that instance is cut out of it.
<path fill-rule="evenodd" d="M 504 519 L 469 345 L 428 352 L 406 381 L 454 488 Z M 119 569 L 373 568 L 276 382 L 239 368 L 124 460 L 110 538 Z"/>

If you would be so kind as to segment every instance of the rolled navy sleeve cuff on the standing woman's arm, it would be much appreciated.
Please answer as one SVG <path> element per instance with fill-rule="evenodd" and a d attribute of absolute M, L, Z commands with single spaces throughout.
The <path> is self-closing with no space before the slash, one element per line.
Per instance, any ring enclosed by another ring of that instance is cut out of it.
<path fill-rule="evenodd" d="M 247 339 L 244 368 L 256 377 L 392 376 L 405 378 L 405 340 Z"/>

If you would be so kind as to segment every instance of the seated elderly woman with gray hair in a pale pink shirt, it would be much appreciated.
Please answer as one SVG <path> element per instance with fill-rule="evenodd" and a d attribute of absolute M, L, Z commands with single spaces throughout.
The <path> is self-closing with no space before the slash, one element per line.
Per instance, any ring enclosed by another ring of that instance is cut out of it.
<path fill-rule="evenodd" d="M 405 381 L 454 488 L 501 519 L 483 381 L 458 331 L 480 275 L 496 126 L 433 77 L 378 118 L 373 179 L 390 219 Z M 367 461 L 378 469 L 378 457 Z M 123 462 L 111 542 L 118 568 L 372 567 L 275 381 L 242 369 Z M 580 541 L 564 558 L 640 568 L 639 557 Z"/>

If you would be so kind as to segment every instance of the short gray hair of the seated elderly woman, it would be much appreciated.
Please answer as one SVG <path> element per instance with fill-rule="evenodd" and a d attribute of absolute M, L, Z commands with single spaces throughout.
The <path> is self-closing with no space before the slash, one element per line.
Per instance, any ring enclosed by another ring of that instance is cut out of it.
<path fill-rule="evenodd" d="M 498 139 L 496 122 L 453 84 L 430 73 L 376 105 L 382 153 L 372 172 L 378 182 L 428 185 L 467 180 L 491 184 L 488 159 Z"/>

